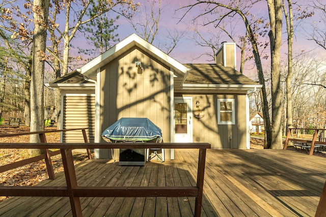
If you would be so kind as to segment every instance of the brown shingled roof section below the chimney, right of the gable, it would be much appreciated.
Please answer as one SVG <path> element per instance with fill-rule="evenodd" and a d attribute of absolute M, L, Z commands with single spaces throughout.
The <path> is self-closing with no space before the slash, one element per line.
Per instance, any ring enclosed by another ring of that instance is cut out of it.
<path fill-rule="evenodd" d="M 262 85 L 244 76 L 232 67 L 221 64 L 184 64 L 191 69 L 185 78 L 183 88 L 227 88 L 253 89 Z"/>

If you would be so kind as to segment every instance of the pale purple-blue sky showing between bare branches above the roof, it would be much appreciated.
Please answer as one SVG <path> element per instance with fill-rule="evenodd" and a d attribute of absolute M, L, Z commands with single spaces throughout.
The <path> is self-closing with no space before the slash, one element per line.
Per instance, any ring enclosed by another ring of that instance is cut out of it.
<path fill-rule="evenodd" d="M 147 9 L 148 13 L 150 11 L 150 3 L 151 1 L 148 0 L 141 0 L 141 1 L 135 1 L 140 2 L 142 7 L 140 8 L 140 12 L 138 14 L 138 17 L 136 17 L 134 20 L 139 20 L 139 17 L 144 16 L 144 11 Z M 177 47 L 170 53 L 170 56 L 175 58 L 176 60 L 180 61 L 180 63 L 213 63 L 211 60 L 211 57 L 207 55 L 201 55 L 204 53 L 212 53 L 212 50 L 210 48 L 204 48 L 200 45 L 197 45 L 194 41 L 193 36 L 194 34 L 194 25 L 192 23 L 192 19 L 195 16 L 198 16 L 200 13 L 200 7 L 197 6 L 194 8 L 191 13 L 188 13 L 181 21 L 180 18 L 184 14 L 185 10 L 178 10 L 180 6 L 187 5 L 188 2 L 194 2 L 194 1 L 178 1 L 178 0 L 164 0 L 161 3 L 161 17 L 159 20 L 159 30 L 158 35 L 155 37 L 153 45 L 164 50 L 163 45 L 165 43 L 169 43 L 169 40 L 167 39 L 168 31 L 174 32 L 175 29 L 178 30 L 179 33 L 184 32 L 184 37 L 179 41 Z M 306 1 L 299 1 L 302 2 L 302 5 L 305 4 Z M 157 5 L 157 3 L 156 3 Z M 204 5 L 202 5 L 204 7 Z M 267 2 L 261 1 L 259 4 L 255 5 L 254 8 L 250 11 L 252 14 L 255 15 L 255 18 L 257 17 L 263 17 L 268 18 L 268 12 L 267 12 Z M 116 15 L 112 15 L 116 16 Z M 213 19 L 213 16 L 211 17 L 207 16 L 207 19 Z M 215 17 L 216 18 L 216 17 Z M 315 13 L 315 15 L 311 18 L 307 18 L 301 23 L 298 23 L 298 21 L 294 20 L 295 24 L 298 24 L 298 26 L 295 28 L 295 38 L 294 38 L 294 44 L 293 44 L 293 53 L 301 52 L 302 50 L 310 51 L 312 55 L 322 55 L 326 56 L 326 50 L 319 47 L 315 42 L 307 40 L 307 33 L 305 31 L 309 30 L 311 23 L 313 23 L 314 20 L 318 20 L 318 16 Z M 199 22 L 201 20 L 198 20 Z M 131 35 L 132 33 L 135 33 L 135 30 L 131 27 L 131 24 L 127 21 L 126 18 L 120 17 L 118 19 L 119 28 L 117 29 L 117 33 L 119 34 L 120 40 L 123 40 L 127 36 Z M 232 24 L 227 24 L 229 29 L 232 29 L 234 36 L 242 36 L 244 34 L 243 31 L 243 21 L 238 20 L 238 17 L 235 17 Z M 212 37 L 214 35 L 219 35 L 219 29 L 214 28 L 212 25 L 210 26 L 200 26 L 197 25 L 198 30 L 201 32 L 201 34 L 207 38 Z M 231 27 L 232 26 L 232 27 Z M 285 21 L 283 21 L 283 28 L 284 28 L 284 34 L 283 34 L 283 46 L 286 48 L 287 41 L 286 41 L 286 29 L 285 29 Z M 305 26 L 305 30 L 302 26 Z M 77 39 L 78 40 L 78 39 Z M 231 42 L 230 38 L 228 38 L 225 34 L 220 35 L 218 42 L 221 43 L 223 41 Z M 268 36 L 265 36 L 264 38 L 261 38 L 261 41 L 268 41 Z M 268 49 L 268 48 L 267 48 Z M 282 51 L 282 55 L 286 55 L 287 49 Z M 239 70 L 239 58 L 240 58 L 240 50 L 237 49 L 237 68 Z M 261 53 L 261 56 L 269 54 L 269 50 L 265 50 Z M 268 65 L 270 63 L 270 59 L 263 60 L 263 65 L 268 69 Z M 252 69 L 253 65 L 248 64 L 246 66 L 247 73 L 252 74 L 255 73 L 255 70 Z M 265 68 L 265 69 L 266 69 Z M 245 72 L 246 74 L 246 72 Z"/>

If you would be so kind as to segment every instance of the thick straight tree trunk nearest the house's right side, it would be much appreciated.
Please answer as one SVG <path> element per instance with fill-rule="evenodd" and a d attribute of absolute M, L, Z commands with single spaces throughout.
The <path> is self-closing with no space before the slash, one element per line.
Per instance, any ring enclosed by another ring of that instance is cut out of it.
<path fill-rule="evenodd" d="M 272 149 L 282 149 L 282 91 L 280 50 L 282 43 L 282 4 L 281 0 L 267 0 L 270 19 L 268 33 L 271 52 L 271 145 Z"/>

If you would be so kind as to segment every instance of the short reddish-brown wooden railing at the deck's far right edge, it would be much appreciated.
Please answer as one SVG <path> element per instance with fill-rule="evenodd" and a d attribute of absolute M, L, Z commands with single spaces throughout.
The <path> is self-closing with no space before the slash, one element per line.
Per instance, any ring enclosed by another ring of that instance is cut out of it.
<path fill-rule="evenodd" d="M 292 130 L 314 130 L 314 135 L 312 136 L 312 140 L 291 138 L 291 131 Z M 318 138 L 318 132 L 319 131 L 323 131 L 323 130 L 325 130 L 325 129 L 289 128 L 289 130 L 287 132 L 287 136 L 286 136 L 286 139 L 285 139 L 285 143 L 284 143 L 283 149 L 286 150 L 289 141 L 308 143 L 308 144 L 311 144 L 310 145 L 311 147 L 310 147 L 310 150 L 309 150 L 309 155 L 312 155 L 314 153 L 315 144 L 326 145 L 326 142 L 325 141 L 318 141 L 317 140 L 317 138 Z"/>

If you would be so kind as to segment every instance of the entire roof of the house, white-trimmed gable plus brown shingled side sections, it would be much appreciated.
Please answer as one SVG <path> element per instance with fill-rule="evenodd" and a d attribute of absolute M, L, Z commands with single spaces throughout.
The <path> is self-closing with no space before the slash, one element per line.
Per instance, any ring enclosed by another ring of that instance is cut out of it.
<path fill-rule="evenodd" d="M 172 68 L 175 75 L 174 90 L 214 90 L 214 91 L 248 91 L 261 88 L 262 85 L 244 76 L 231 67 L 222 64 L 181 64 L 174 58 L 149 44 L 139 36 L 132 34 L 120 43 L 89 61 L 86 65 L 63 76 L 60 79 L 45 84 L 50 87 L 76 89 L 95 88 L 95 84 L 86 81 L 85 77 L 94 76 L 97 70 L 110 63 L 114 58 L 126 52 L 133 46 L 138 46 L 163 64 Z"/>

